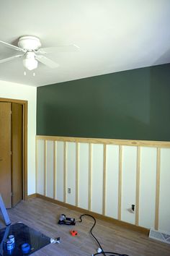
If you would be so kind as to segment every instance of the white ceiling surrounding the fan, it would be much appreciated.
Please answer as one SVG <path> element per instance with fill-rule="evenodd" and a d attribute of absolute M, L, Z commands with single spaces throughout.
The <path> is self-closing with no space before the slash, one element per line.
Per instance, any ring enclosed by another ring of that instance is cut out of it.
<path fill-rule="evenodd" d="M 17 46 L 22 35 L 80 50 L 48 54 L 60 67 L 39 64 L 35 77 L 22 59 L 0 64 L 0 80 L 41 86 L 170 63 L 170 1 L 0 0 L 0 40 Z M 17 54 L 0 46 L 0 59 Z"/>

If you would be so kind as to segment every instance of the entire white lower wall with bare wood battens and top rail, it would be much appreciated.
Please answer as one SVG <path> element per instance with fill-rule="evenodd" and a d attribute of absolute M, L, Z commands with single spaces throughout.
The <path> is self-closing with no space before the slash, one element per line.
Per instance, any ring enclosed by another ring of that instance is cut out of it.
<path fill-rule="evenodd" d="M 170 232 L 169 142 L 37 136 L 36 143 L 38 194 Z"/>

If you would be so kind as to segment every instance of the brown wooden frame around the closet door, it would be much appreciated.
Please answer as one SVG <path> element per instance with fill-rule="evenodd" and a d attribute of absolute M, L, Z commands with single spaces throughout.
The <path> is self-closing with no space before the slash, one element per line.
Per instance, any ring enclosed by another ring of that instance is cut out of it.
<path fill-rule="evenodd" d="M 0 102 L 6 103 L 19 103 L 23 108 L 23 124 L 22 124 L 22 197 L 23 200 L 27 200 L 27 101 L 11 99 L 11 98 L 0 98 Z"/>

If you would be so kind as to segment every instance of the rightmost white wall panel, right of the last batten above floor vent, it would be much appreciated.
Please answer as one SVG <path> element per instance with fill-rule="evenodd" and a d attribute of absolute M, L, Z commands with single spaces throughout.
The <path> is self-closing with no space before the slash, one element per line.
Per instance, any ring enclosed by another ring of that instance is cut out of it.
<path fill-rule="evenodd" d="M 170 232 L 170 149 L 161 149 L 158 229 Z"/>

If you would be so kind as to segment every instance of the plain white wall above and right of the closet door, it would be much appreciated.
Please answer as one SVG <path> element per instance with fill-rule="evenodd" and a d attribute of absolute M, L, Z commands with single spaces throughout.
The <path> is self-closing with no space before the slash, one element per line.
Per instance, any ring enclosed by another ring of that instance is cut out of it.
<path fill-rule="evenodd" d="M 0 80 L 0 98 L 28 101 L 27 193 L 35 193 L 35 135 L 37 88 Z"/>

